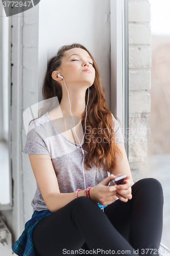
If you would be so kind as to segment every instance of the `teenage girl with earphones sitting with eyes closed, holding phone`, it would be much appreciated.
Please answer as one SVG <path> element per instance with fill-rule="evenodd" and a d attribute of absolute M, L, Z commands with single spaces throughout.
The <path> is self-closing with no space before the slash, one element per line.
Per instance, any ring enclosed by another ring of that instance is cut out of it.
<path fill-rule="evenodd" d="M 154 178 L 133 182 L 118 118 L 109 111 L 90 52 L 80 44 L 61 47 L 48 61 L 42 94 L 59 105 L 48 104 L 29 125 L 23 152 L 37 190 L 33 216 L 13 251 L 158 254 L 162 186 Z M 121 175 L 127 175 L 123 184 L 108 186 Z"/>

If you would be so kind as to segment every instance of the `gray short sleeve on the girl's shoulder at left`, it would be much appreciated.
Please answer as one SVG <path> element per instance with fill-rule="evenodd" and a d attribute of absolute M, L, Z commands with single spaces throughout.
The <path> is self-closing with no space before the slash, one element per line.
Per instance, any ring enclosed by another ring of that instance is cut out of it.
<path fill-rule="evenodd" d="M 23 153 L 50 155 L 44 142 L 45 137 L 46 131 L 42 124 L 33 120 L 28 128 L 27 140 Z"/>

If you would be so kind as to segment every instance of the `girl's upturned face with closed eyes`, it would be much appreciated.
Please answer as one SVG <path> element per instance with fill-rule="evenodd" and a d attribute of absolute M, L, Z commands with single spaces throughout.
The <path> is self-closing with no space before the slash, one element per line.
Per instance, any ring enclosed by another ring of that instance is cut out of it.
<path fill-rule="evenodd" d="M 74 48 L 65 52 L 58 73 L 64 77 L 67 83 L 81 83 L 87 88 L 92 86 L 95 78 L 93 61 L 89 54 L 81 48 Z"/>

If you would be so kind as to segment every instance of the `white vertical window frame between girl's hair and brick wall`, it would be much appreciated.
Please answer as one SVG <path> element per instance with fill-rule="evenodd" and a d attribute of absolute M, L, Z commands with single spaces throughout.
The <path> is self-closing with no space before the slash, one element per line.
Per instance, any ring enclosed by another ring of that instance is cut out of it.
<path fill-rule="evenodd" d="M 111 12 L 111 112 L 119 118 L 129 157 L 129 28 L 128 2 L 110 1 Z M 113 13 L 113 15 L 112 15 Z M 116 35 L 116 36 L 115 36 Z"/>

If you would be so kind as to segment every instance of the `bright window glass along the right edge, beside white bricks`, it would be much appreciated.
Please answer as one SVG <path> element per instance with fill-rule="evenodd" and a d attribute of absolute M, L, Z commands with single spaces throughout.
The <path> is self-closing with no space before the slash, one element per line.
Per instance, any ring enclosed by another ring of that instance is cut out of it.
<path fill-rule="evenodd" d="M 170 248 L 170 1 L 150 0 L 152 33 L 151 114 L 147 123 L 147 177 L 163 188 L 161 242 Z"/>

